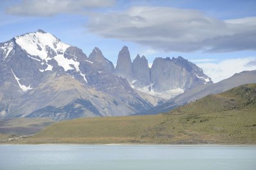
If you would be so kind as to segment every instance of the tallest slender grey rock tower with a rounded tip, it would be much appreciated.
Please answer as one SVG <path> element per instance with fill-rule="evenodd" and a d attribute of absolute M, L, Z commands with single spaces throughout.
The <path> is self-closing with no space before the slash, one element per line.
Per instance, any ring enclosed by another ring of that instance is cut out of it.
<path fill-rule="evenodd" d="M 126 78 L 128 81 L 131 81 L 133 78 L 132 62 L 130 52 L 127 46 L 124 46 L 122 50 L 118 53 L 115 73 L 118 76 Z"/>

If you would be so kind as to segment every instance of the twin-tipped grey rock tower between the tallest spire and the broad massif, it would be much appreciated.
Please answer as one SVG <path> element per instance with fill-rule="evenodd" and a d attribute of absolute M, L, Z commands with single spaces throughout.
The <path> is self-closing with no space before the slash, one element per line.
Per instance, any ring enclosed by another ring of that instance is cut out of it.
<path fill-rule="evenodd" d="M 148 67 L 148 60 L 143 55 L 137 55 L 137 57 L 132 62 L 132 72 L 133 78 L 136 80 L 134 82 L 135 87 L 143 87 L 150 84 L 150 69 Z"/>

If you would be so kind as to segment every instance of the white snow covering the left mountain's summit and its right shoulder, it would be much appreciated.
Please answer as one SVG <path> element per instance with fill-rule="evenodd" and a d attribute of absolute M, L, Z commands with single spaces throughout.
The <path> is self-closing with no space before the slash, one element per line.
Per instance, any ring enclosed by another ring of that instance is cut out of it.
<path fill-rule="evenodd" d="M 38 63 L 36 66 L 41 73 L 53 69 L 62 70 L 58 68 L 62 67 L 63 71 L 61 73 L 74 70 L 74 74 L 79 73 L 80 77 L 87 83 L 86 75 L 79 69 L 80 62 L 76 55 L 76 52 L 78 52 L 76 47 L 61 42 L 60 39 L 41 29 L 16 36 L 13 41 L 26 52 L 26 57 Z M 4 46 L 4 48 L 7 47 Z"/>

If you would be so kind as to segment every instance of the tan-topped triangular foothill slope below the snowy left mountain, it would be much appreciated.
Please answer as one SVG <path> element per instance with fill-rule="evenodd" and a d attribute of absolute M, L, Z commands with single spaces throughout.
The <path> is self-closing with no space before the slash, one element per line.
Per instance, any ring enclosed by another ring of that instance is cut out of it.
<path fill-rule="evenodd" d="M 68 75 L 51 74 L 44 83 L 24 94 L 15 103 L 17 105 L 8 117 L 50 117 L 53 120 L 66 120 L 134 113 L 129 104 L 87 87 Z"/>

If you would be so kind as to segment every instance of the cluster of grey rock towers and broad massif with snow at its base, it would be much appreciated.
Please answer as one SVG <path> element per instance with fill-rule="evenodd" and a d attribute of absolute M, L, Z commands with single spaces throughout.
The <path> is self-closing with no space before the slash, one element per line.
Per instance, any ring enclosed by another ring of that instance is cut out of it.
<path fill-rule="evenodd" d="M 163 94 L 166 99 L 197 85 L 212 84 L 200 67 L 182 57 L 158 57 L 149 68 L 146 57 L 137 55 L 131 64 L 127 46 L 118 54 L 115 74 L 126 78 L 134 89 L 154 96 Z"/>

